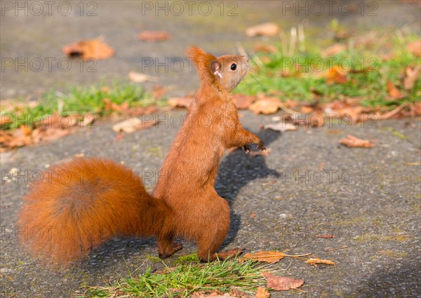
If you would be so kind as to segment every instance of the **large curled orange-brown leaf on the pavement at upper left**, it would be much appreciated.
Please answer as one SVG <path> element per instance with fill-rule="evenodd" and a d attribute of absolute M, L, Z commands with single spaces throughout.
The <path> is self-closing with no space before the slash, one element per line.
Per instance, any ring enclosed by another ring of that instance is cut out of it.
<path fill-rule="evenodd" d="M 100 39 L 77 41 L 63 46 L 62 52 L 68 56 L 81 56 L 83 60 L 109 59 L 114 55 L 114 50 Z"/>

